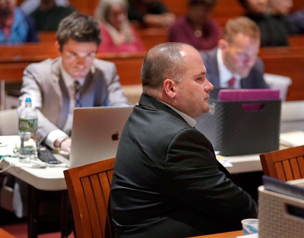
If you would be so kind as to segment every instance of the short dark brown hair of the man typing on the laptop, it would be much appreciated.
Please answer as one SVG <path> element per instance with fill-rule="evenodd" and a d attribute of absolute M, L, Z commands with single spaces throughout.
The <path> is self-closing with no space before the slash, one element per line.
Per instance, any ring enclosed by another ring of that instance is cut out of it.
<path fill-rule="evenodd" d="M 73 12 L 60 21 L 56 38 L 61 50 L 69 39 L 77 42 L 96 42 L 97 47 L 102 40 L 98 21 L 80 12 Z"/>

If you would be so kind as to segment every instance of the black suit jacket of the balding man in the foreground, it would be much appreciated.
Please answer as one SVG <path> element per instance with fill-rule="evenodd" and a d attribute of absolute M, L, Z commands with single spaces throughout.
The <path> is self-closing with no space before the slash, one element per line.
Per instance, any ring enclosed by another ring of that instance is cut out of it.
<path fill-rule="evenodd" d="M 240 230 L 257 216 L 210 141 L 142 95 L 123 129 L 111 186 L 115 237 L 189 237 Z"/>

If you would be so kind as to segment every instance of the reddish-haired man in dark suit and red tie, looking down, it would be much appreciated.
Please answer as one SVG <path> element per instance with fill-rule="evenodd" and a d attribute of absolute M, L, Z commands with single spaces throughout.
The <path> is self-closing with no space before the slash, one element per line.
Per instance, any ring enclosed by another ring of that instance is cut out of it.
<path fill-rule="evenodd" d="M 269 88 L 263 79 L 264 63 L 257 57 L 260 42 L 254 21 L 247 17 L 230 19 L 218 46 L 200 52 L 210 83 L 215 88 Z"/>

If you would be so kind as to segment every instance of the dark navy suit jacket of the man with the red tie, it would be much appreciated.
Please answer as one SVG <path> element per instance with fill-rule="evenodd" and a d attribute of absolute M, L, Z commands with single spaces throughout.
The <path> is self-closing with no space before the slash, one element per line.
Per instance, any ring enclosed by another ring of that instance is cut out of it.
<path fill-rule="evenodd" d="M 216 88 L 219 87 L 219 68 L 216 59 L 217 47 L 209 51 L 200 51 L 204 65 L 207 69 L 206 78 Z M 241 88 L 269 88 L 263 78 L 264 63 L 257 58 L 247 78 L 242 78 Z"/>

